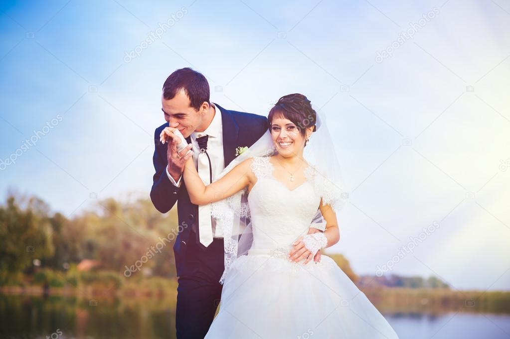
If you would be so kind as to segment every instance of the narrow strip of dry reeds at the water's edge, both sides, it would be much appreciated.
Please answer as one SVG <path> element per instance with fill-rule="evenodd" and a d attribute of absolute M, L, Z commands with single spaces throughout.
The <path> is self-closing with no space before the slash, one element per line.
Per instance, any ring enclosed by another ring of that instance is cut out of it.
<path fill-rule="evenodd" d="M 440 315 L 450 312 L 510 315 L 510 291 L 452 291 L 448 289 L 411 289 L 400 287 L 371 287 L 360 289 L 381 312 L 388 314 Z M 0 295 L 20 297 L 63 297 L 89 300 L 117 300 L 138 302 L 158 300 L 167 304 L 176 301 L 176 281 L 167 286 L 143 288 L 137 284 L 108 289 L 100 286 L 53 287 L 10 286 L 0 287 Z"/>

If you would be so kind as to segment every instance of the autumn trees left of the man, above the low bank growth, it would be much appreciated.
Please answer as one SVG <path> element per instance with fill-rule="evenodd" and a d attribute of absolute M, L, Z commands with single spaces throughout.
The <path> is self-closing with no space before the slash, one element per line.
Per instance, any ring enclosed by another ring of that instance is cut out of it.
<path fill-rule="evenodd" d="M 0 286 L 24 285 L 41 269 L 65 272 L 83 259 L 123 274 L 149 252 L 133 275 L 174 277 L 174 214 L 161 214 L 148 199 L 106 199 L 68 218 L 38 197 L 10 194 L 0 205 Z"/>

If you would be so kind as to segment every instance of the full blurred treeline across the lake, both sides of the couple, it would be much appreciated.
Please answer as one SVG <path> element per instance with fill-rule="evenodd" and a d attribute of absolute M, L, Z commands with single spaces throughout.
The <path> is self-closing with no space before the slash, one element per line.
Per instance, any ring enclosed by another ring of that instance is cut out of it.
<path fill-rule="evenodd" d="M 125 278 L 173 278 L 176 234 L 176 211 L 161 214 L 149 199 L 98 200 L 66 217 L 36 196 L 9 194 L 0 205 L 0 286 L 115 289 Z M 436 277 L 360 277 L 343 255 L 326 255 L 360 287 L 448 287 Z M 80 273 L 79 263 L 89 268 Z"/>

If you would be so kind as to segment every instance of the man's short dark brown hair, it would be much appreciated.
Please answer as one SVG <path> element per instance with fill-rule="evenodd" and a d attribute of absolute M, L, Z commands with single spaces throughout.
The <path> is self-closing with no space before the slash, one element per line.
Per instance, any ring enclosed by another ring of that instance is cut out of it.
<path fill-rule="evenodd" d="M 172 99 L 177 92 L 184 90 L 190 99 L 191 107 L 200 109 L 204 101 L 211 104 L 209 82 L 202 73 L 189 67 L 175 70 L 163 83 L 163 98 Z"/>

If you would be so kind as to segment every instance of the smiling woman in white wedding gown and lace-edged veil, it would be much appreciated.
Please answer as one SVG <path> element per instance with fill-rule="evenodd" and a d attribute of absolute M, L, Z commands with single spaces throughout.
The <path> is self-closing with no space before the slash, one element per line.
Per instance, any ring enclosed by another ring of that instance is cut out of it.
<path fill-rule="evenodd" d="M 213 203 L 213 216 L 225 232 L 220 310 L 206 338 L 398 338 L 333 259 L 312 261 L 317 251 L 340 239 L 335 204 L 341 191 L 325 175 L 334 173 L 326 164 L 334 157 L 333 145 L 314 149 L 316 160 L 319 151 L 325 155 L 318 166 L 303 155 L 314 132 L 327 131 L 317 119 L 304 95 L 280 98 L 269 112 L 269 131 L 256 143 L 270 152 L 252 146 L 207 186 L 186 156 L 191 202 Z M 235 212 L 237 222 L 228 211 Z M 307 234 L 317 215 L 325 220 L 324 231 Z M 251 222 L 241 232 L 236 225 L 243 217 Z M 247 252 L 241 250 L 243 238 L 250 239 Z"/>

